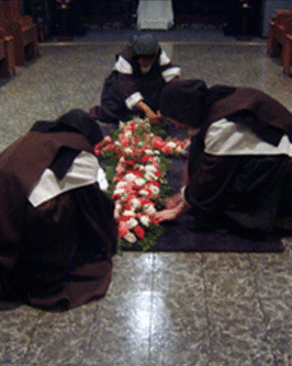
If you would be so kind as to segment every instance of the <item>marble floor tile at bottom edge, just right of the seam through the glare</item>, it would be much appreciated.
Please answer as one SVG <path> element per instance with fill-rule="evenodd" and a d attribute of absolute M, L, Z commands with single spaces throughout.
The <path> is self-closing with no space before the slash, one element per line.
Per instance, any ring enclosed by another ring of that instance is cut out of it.
<path fill-rule="evenodd" d="M 209 323 L 204 297 L 195 293 L 154 293 L 150 361 L 157 365 L 201 365 L 207 362 Z"/>

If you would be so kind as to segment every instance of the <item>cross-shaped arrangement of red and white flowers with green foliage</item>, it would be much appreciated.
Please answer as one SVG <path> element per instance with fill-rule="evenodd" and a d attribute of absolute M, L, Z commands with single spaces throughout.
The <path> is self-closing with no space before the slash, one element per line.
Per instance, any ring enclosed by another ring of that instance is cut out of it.
<path fill-rule="evenodd" d="M 97 156 L 108 158 L 108 193 L 115 203 L 119 247 L 134 243 L 148 250 L 162 233 L 153 215 L 162 207 L 169 195 L 166 173 L 168 157 L 178 157 L 189 139 L 164 140 L 161 129 L 148 119 L 135 118 L 121 123 L 120 128 L 106 136 L 94 148 Z"/>

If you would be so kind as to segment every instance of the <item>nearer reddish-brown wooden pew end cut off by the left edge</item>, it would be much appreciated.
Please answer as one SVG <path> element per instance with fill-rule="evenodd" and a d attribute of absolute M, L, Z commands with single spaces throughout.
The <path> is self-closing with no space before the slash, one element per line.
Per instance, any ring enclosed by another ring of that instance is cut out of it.
<path fill-rule="evenodd" d="M 0 78 L 15 75 L 14 43 L 12 36 L 5 36 L 0 28 Z"/>

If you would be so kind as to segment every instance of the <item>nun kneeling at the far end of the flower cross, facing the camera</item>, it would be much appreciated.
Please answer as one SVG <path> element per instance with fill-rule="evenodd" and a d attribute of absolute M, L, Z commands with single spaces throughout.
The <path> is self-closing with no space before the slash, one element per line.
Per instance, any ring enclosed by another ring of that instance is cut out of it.
<path fill-rule="evenodd" d="M 90 114 L 112 126 L 133 115 L 146 116 L 149 123 L 157 124 L 160 93 L 179 77 L 180 67 L 171 62 L 153 34 L 135 34 L 116 55 L 103 84 L 101 105 L 93 106 Z"/>

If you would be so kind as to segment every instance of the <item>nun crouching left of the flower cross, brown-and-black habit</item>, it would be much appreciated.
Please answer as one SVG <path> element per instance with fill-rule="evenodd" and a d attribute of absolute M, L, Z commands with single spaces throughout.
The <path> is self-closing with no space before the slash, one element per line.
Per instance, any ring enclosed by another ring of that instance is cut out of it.
<path fill-rule="evenodd" d="M 0 298 L 66 310 L 103 297 L 116 249 L 113 203 L 93 153 L 97 122 L 36 122 L 0 155 Z"/>

